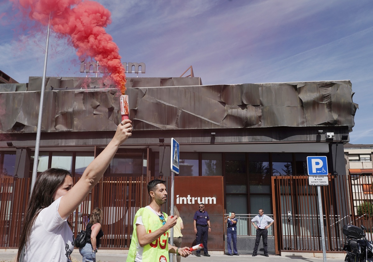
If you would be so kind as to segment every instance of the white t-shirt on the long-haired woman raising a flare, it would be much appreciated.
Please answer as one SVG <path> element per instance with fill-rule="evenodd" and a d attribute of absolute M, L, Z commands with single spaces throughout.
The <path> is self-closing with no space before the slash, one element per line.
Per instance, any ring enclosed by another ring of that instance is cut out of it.
<path fill-rule="evenodd" d="M 74 235 L 67 218 L 62 219 L 58 213 L 61 198 L 41 210 L 37 216 L 25 250 L 24 262 L 70 262 Z"/>

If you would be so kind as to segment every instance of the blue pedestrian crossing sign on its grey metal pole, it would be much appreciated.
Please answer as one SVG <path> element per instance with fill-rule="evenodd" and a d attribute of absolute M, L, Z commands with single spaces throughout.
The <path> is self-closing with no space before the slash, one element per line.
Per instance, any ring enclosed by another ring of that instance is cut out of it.
<path fill-rule="evenodd" d="M 171 138 L 171 210 L 170 210 L 170 216 L 173 215 L 173 205 L 174 205 L 174 181 L 175 181 L 175 173 L 179 174 L 179 160 L 180 160 L 180 154 L 179 154 L 179 143 Z M 170 229 L 170 244 L 173 246 L 173 228 Z M 177 255 L 177 254 L 176 254 Z M 170 262 L 173 262 L 173 254 L 170 253 Z"/>

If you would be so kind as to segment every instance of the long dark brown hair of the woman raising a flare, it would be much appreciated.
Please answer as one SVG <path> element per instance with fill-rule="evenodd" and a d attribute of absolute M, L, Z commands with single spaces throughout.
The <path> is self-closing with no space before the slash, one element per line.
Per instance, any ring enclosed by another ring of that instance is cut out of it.
<path fill-rule="evenodd" d="M 22 247 L 28 244 L 36 217 L 41 209 L 50 206 L 54 201 L 53 195 L 65 182 L 66 176 L 71 176 L 70 172 L 61 168 L 47 169 L 38 176 L 25 212 L 22 234 L 18 244 L 17 262 L 21 258 Z"/>

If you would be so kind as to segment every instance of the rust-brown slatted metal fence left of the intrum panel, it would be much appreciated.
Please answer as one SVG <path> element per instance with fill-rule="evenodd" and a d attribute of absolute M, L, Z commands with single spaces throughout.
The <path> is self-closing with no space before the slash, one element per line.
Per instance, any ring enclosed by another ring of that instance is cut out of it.
<path fill-rule="evenodd" d="M 74 184 L 79 178 L 74 177 Z M 154 179 L 152 177 L 151 179 Z M 68 217 L 74 235 L 84 230 L 97 206 L 103 209 L 103 248 L 128 248 L 136 211 L 150 203 L 146 185 L 150 177 L 103 177 Z M 169 178 L 166 180 L 169 186 Z M 0 247 L 17 247 L 30 194 L 31 178 L 0 180 Z M 169 206 L 164 205 L 164 210 Z"/>

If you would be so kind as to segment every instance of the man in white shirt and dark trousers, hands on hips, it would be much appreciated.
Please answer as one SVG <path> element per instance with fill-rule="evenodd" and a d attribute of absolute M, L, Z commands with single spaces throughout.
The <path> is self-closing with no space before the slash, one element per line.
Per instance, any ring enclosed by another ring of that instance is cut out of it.
<path fill-rule="evenodd" d="M 255 225 L 255 222 L 257 223 L 256 225 Z M 268 250 L 267 250 L 268 230 L 267 229 L 273 224 L 273 222 L 275 221 L 272 218 L 270 218 L 267 215 L 264 215 L 263 209 L 259 209 L 259 215 L 257 215 L 251 220 L 251 224 L 253 224 L 257 230 L 257 237 L 255 240 L 253 256 L 257 255 L 260 237 L 263 238 L 264 256 L 268 256 Z"/>

